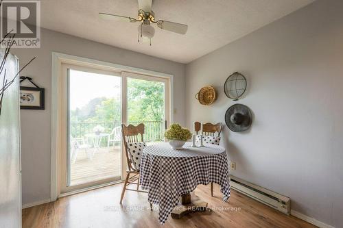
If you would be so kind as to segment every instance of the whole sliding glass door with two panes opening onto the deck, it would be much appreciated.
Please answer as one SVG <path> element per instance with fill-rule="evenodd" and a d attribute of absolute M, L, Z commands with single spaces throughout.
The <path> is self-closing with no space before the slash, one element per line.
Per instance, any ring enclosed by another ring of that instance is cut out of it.
<path fill-rule="evenodd" d="M 145 142 L 162 142 L 169 125 L 169 81 L 69 64 L 62 71 L 60 192 L 121 180 L 126 171 L 121 123 L 144 123 Z"/>

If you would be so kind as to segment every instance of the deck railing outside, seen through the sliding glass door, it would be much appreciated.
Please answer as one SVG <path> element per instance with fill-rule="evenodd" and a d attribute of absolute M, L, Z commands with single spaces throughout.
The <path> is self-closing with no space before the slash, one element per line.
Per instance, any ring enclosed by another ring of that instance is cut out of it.
<path fill-rule="evenodd" d="M 165 122 L 164 121 L 131 121 L 131 122 L 129 122 L 129 124 L 132 124 L 132 125 L 139 125 L 139 123 L 143 123 L 145 125 L 145 134 L 144 134 L 144 141 L 145 142 L 163 141 L 164 134 L 165 134 Z M 71 123 L 71 125 L 70 125 L 71 136 L 73 136 L 74 138 L 84 138 L 84 136 L 86 134 L 93 133 L 93 129 L 97 125 L 104 127 L 103 133 L 110 134 L 110 132 L 115 127 L 121 126 L 121 123 L 74 122 L 74 123 Z M 107 143 L 107 139 L 104 141 L 106 141 L 106 143 Z M 105 142 L 102 142 L 102 144 L 105 144 Z"/>

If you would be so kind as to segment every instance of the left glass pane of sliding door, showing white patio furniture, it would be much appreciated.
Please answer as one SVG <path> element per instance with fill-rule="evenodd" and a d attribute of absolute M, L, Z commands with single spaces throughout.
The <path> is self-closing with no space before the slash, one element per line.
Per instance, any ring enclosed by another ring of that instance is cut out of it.
<path fill-rule="evenodd" d="M 121 179 L 121 77 L 67 71 L 67 188 Z"/>

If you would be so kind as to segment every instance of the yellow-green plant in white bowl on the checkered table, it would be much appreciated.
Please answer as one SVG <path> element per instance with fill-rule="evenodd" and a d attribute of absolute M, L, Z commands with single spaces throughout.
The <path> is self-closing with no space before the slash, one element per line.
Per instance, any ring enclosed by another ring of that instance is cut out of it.
<path fill-rule="evenodd" d="M 178 123 L 174 123 L 165 131 L 165 138 L 169 140 L 171 148 L 182 149 L 185 142 L 191 139 L 191 131 L 182 128 Z"/>

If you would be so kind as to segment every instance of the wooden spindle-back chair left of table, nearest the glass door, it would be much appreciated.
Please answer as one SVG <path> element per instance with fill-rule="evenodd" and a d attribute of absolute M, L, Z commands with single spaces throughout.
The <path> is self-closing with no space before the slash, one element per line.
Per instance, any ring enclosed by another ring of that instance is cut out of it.
<path fill-rule="evenodd" d="M 134 125 L 121 125 L 121 135 L 123 136 L 123 144 L 125 148 L 126 154 L 126 162 L 128 164 L 128 170 L 126 170 L 126 179 L 124 182 L 123 190 L 121 192 L 120 203 L 123 201 L 123 197 L 126 190 L 134 191 L 134 192 L 145 192 L 143 190 L 139 190 L 139 168 L 140 164 L 137 164 L 136 161 L 132 160 L 133 157 L 130 155 L 129 145 L 135 142 L 143 142 L 143 134 L 144 134 L 145 126 L 143 123 L 140 123 L 137 126 Z M 139 149 L 141 153 L 143 153 L 143 148 Z M 140 160 L 139 160 L 140 162 Z M 131 175 L 131 177 L 130 177 Z M 137 182 L 135 182 L 137 181 Z M 137 185 L 137 189 L 127 188 L 130 184 Z M 150 209 L 152 210 L 152 204 L 150 203 Z"/>

